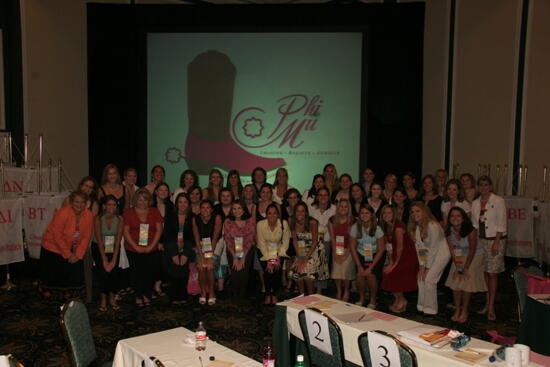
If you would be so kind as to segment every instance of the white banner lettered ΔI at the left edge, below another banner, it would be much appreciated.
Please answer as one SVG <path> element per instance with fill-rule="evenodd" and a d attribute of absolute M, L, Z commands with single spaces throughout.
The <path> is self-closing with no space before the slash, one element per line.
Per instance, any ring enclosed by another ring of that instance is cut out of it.
<path fill-rule="evenodd" d="M 23 199 L 0 200 L 0 265 L 25 260 L 22 206 Z"/>

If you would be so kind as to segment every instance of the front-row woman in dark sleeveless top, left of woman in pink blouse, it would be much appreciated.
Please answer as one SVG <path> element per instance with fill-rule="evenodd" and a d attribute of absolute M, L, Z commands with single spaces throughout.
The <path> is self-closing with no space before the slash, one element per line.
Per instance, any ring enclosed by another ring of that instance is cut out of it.
<path fill-rule="evenodd" d="M 201 296 L 199 304 L 216 304 L 216 290 L 214 287 L 214 253 L 220 239 L 222 221 L 219 215 L 212 209 L 212 203 L 208 200 L 201 201 L 200 215 L 193 217 L 193 237 L 199 255 L 199 281 L 201 283 Z"/>

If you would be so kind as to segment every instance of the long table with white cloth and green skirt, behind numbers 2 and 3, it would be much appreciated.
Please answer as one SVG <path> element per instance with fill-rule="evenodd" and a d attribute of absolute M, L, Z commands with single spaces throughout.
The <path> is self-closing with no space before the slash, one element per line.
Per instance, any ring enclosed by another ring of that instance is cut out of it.
<path fill-rule="evenodd" d="M 358 346 L 358 337 L 362 333 L 369 330 L 383 330 L 394 336 L 398 336 L 399 331 L 411 329 L 421 324 L 416 321 L 407 320 L 394 315 L 385 314 L 379 311 L 371 310 L 368 308 L 351 305 L 342 301 L 338 301 L 329 297 L 315 295 L 309 296 L 309 299 L 314 301 L 307 302 L 305 297 L 295 298 L 280 302 L 275 309 L 275 322 L 273 327 L 273 343 L 275 345 L 275 351 L 277 355 L 278 367 L 290 367 L 292 366 L 292 360 L 297 354 L 307 355 L 305 344 L 303 342 L 303 335 L 298 322 L 298 313 L 307 307 L 316 307 L 317 304 L 322 304 L 328 301 L 331 303 L 330 307 L 321 308 L 328 316 L 330 316 L 342 331 L 344 354 L 349 366 L 362 366 L 361 352 Z M 336 316 L 340 316 L 346 313 L 364 312 L 367 321 L 344 323 Z M 440 327 L 435 327 L 438 329 Z M 465 360 L 455 357 L 457 352 L 453 351 L 449 345 L 444 346 L 441 349 L 433 349 L 429 347 L 423 347 L 416 344 L 403 342 L 415 352 L 419 366 L 505 366 L 502 361 L 490 363 L 488 358 L 484 358 L 477 364 L 467 362 Z M 489 343 L 480 339 L 472 338 L 468 343 L 467 348 L 474 349 L 478 352 L 491 355 L 493 351 L 499 346 L 493 343 Z M 531 363 L 532 366 L 538 364 Z"/>

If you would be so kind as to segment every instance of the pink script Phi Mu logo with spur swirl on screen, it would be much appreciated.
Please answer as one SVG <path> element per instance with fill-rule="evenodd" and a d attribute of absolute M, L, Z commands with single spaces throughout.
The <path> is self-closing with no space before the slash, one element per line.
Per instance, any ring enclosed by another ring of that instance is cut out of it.
<path fill-rule="evenodd" d="M 231 122 L 234 139 L 247 148 L 275 146 L 299 148 L 305 132 L 315 131 L 323 104 L 321 96 L 291 94 L 277 100 L 278 116 L 266 121 L 266 111 L 260 107 L 247 107 L 239 111 Z"/>

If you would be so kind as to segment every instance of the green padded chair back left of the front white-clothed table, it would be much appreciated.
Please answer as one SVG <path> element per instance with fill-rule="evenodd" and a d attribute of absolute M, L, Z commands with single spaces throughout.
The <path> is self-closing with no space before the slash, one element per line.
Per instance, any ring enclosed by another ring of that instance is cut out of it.
<path fill-rule="evenodd" d="M 71 365 L 89 366 L 97 358 L 97 353 L 86 306 L 78 300 L 67 301 L 61 308 L 60 322 Z"/>

